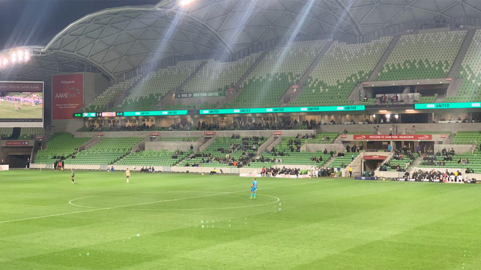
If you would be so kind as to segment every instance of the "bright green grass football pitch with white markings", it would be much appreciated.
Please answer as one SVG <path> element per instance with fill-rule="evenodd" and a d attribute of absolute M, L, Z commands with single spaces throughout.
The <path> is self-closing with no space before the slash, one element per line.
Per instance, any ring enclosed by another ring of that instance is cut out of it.
<path fill-rule="evenodd" d="M 1 171 L 0 268 L 481 268 L 481 185 L 251 181 Z"/>

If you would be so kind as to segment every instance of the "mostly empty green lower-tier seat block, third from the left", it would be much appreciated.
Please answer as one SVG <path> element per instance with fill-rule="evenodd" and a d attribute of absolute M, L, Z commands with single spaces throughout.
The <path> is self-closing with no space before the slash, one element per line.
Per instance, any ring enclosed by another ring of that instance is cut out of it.
<path fill-rule="evenodd" d="M 140 152 L 133 152 L 119 161 L 116 165 L 140 165 L 140 166 L 174 166 L 185 156 L 191 154 L 192 151 L 185 151 L 182 154 L 175 153 L 175 151 L 161 150 L 147 150 Z M 159 170 L 158 168 L 157 170 Z"/>

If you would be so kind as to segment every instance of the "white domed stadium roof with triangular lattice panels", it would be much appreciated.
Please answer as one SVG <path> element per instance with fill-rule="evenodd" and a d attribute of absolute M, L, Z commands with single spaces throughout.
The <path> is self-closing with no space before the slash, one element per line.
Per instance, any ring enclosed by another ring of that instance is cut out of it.
<path fill-rule="evenodd" d="M 173 55 L 231 53 L 298 34 L 364 35 L 410 21 L 480 15 L 481 1 L 472 0 L 195 0 L 186 7 L 161 0 L 88 14 L 36 46 L 37 60 L 0 70 L 0 76 L 49 79 L 55 68 L 87 68 L 114 77 Z"/>

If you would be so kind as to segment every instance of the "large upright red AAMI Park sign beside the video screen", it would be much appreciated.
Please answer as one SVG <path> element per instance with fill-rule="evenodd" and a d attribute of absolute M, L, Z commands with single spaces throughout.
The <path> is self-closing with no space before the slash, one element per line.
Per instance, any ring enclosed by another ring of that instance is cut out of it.
<path fill-rule="evenodd" d="M 74 112 L 83 105 L 83 74 L 52 77 L 52 119 L 74 119 Z"/>

